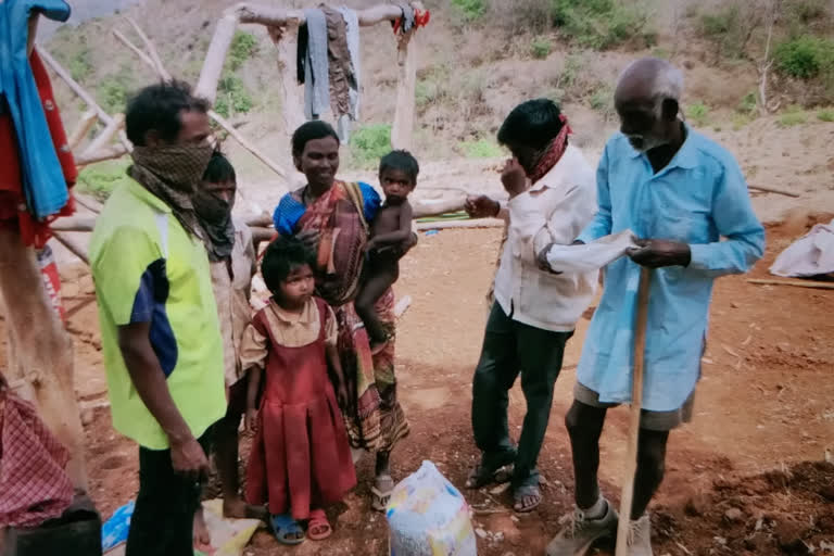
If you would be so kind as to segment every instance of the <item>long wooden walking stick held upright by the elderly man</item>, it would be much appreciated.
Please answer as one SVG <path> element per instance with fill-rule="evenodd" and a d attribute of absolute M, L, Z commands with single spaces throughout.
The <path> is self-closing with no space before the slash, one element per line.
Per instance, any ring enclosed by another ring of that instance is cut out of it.
<path fill-rule="evenodd" d="M 634 323 L 634 376 L 631 384 L 631 410 L 629 413 L 629 445 L 626 456 L 626 479 L 620 496 L 620 521 L 617 526 L 616 556 L 629 556 L 629 526 L 631 506 L 634 502 L 634 478 L 637 471 L 637 446 L 640 442 L 640 415 L 643 408 L 643 364 L 646 349 L 646 326 L 648 324 L 648 290 L 652 286 L 652 270 L 640 269 L 637 288 L 637 315 Z"/>

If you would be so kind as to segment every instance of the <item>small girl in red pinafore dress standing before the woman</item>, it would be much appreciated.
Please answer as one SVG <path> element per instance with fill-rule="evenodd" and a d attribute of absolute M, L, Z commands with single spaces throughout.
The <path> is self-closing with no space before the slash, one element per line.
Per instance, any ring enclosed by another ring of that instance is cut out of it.
<path fill-rule="evenodd" d="M 328 375 L 346 399 L 336 351 L 333 311 L 313 296 L 312 255 L 301 241 L 279 238 L 261 270 L 273 293 L 243 334 L 241 359 L 249 369 L 247 425 L 255 429 L 247 472 L 247 498 L 269 505 L 276 538 L 300 544 L 332 533 L 323 507 L 356 485 L 348 434 Z M 261 408 L 257 397 L 262 391 Z"/>

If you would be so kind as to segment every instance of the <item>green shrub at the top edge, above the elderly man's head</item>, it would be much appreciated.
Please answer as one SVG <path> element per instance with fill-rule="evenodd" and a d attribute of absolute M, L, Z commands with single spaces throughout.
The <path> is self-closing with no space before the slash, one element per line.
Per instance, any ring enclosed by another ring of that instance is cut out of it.
<path fill-rule="evenodd" d="M 606 50 L 633 39 L 654 45 L 648 30 L 648 10 L 636 2 L 615 0 L 551 0 L 555 26 L 573 41 Z"/>

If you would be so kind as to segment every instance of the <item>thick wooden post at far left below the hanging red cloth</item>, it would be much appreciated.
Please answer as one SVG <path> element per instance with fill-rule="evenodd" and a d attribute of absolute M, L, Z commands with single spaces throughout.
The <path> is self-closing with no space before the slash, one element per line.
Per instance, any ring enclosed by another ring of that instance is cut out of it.
<path fill-rule="evenodd" d="M 13 349 L 7 378 L 70 451 L 66 471 L 87 490 L 84 429 L 73 381 L 73 344 L 43 286 L 35 250 L 20 233 L 0 229 L 0 295 Z"/>

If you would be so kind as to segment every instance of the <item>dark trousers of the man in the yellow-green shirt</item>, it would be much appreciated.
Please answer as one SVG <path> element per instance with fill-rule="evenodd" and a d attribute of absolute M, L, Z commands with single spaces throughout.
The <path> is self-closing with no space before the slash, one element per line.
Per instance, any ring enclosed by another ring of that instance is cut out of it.
<path fill-rule="evenodd" d="M 211 429 L 210 429 L 211 430 Z M 199 439 L 208 454 L 210 433 Z M 175 473 L 170 450 L 139 447 L 139 494 L 125 556 L 193 556 L 194 511 L 202 485 Z"/>

